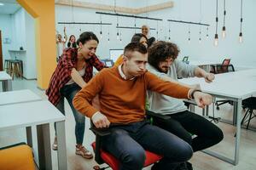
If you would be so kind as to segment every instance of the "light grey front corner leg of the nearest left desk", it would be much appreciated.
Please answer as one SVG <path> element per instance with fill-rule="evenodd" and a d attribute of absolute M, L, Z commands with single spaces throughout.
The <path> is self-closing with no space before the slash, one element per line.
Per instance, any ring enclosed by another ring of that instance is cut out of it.
<path fill-rule="evenodd" d="M 56 122 L 56 135 L 58 144 L 58 167 L 60 170 L 67 170 L 65 121 Z"/>

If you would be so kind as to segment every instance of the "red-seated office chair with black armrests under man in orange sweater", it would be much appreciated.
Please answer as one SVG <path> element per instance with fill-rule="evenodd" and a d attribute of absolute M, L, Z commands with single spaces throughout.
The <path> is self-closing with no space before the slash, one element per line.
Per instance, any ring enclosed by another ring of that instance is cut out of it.
<path fill-rule="evenodd" d="M 155 114 L 152 111 L 146 111 L 146 113 L 147 113 L 147 119 L 149 119 L 150 122 L 153 122 L 154 117 L 169 119 L 169 116 L 162 116 L 160 114 Z M 91 122 L 90 130 L 96 134 L 96 141 L 91 144 L 95 152 L 95 161 L 98 164 L 107 163 L 108 166 L 111 167 L 113 170 L 119 170 L 119 166 L 120 166 L 119 160 L 114 156 L 112 156 L 107 151 L 101 149 L 101 146 L 102 146 L 101 138 L 103 136 L 107 136 L 108 134 L 110 134 L 110 131 L 108 130 L 108 128 L 98 129 Z M 148 150 L 146 150 L 145 154 L 146 154 L 146 160 L 144 163 L 144 167 L 148 167 L 149 165 L 154 164 L 157 161 L 160 161 L 160 159 L 162 158 L 162 156 L 157 155 Z M 108 167 L 102 167 L 102 168 L 99 166 L 93 167 L 93 169 L 95 170 L 104 170 L 106 168 Z"/>

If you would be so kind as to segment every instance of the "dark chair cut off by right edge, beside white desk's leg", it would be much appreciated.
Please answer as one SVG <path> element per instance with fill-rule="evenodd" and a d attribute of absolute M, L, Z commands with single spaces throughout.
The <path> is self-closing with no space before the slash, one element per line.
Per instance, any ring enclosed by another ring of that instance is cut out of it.
<path fill-rule="evenodd" d="M 242 100 L 242 107 L 247 109 L 247 111 L 241 120 L 241 125 L 247 122 L 248 129 L 250 121 L 256 116 L 256 114 L 253 112 L 256 110 L 256 97 Z"/>

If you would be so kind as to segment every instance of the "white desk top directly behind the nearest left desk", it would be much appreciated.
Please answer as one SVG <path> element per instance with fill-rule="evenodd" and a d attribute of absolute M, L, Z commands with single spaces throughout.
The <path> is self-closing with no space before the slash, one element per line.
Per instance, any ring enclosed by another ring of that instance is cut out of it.
<path fill-rule="evenodd" d="M 41 99 L 40 96 L 28 89 L 0 93 L 0 105 L 13 105 Z"/>

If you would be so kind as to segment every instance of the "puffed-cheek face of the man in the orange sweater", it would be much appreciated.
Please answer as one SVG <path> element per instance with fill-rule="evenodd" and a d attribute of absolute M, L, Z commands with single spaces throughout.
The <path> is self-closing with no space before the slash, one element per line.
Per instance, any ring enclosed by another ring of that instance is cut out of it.
<path fill-rule="evenodd" d="M 147 62 L 148 54 L 141 54 L 137 51 L 128 52 L 124 56 L 125 72 L 130 77 L 139 77 L 147 71 Z"/>

